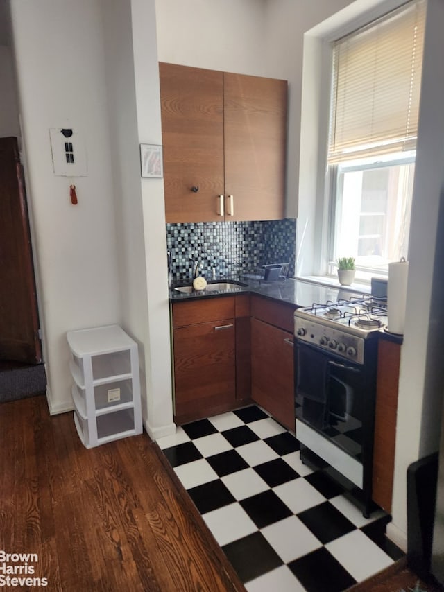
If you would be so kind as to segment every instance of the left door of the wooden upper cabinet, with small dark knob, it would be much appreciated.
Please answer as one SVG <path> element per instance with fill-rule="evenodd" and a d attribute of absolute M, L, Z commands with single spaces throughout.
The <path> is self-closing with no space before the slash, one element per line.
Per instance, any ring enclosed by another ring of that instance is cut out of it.
<path fill-rule="evenodd" d="M 223 220 L 222 72 L 161 63 L 160 99 L 167 222 Z"/>

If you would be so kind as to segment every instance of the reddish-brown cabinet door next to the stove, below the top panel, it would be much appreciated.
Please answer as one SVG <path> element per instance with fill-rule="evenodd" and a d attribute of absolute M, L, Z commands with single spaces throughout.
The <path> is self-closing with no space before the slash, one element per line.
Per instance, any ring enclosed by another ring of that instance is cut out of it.
<path fill-rule="evenodd" d="M 293 334 L 251 320 L 251 397 L 294 431 Z"/>

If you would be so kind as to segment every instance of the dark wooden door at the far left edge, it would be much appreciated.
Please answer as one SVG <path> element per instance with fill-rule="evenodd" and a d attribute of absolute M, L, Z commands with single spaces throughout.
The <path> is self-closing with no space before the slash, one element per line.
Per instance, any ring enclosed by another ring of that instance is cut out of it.
<path fill-rule="evenodd" d="M 0 360 L 42 361 L 28 208 L 17 138 L 0 138 Z"/>

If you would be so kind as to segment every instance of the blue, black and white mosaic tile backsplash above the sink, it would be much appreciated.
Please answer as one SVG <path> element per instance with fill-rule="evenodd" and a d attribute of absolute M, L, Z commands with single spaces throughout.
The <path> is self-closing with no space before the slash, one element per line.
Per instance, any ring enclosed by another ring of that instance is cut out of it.
<path fill-rule="evenodd" d="M 167 248 L 172 281 L 191 279 L 197 263 L 206 279 L 212 279 L 213 268 L 221 278 L 286 262 L 293 277 L 296 220 L 167 224 Z"/>

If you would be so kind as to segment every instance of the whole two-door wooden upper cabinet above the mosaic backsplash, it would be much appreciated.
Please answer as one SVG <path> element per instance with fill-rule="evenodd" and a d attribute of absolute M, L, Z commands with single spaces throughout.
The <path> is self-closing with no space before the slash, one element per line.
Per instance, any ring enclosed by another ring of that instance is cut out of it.
<path fill-rule="evenodd" d="M 284 218 L 286 81 L 160 63 L 160 99 L 167 222 Z"/>

